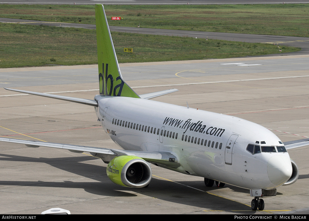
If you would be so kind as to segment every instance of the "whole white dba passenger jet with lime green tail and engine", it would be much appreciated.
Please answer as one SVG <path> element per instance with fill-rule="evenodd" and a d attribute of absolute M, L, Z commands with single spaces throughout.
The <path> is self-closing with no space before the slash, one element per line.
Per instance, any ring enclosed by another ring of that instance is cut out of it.
<path fill-rule="evenodd" d="M 108 164 L 108 178 L 121 186 L 147 187 L 150 164 L 204 177 L 208 187 L 228 183 L 250 190 L 254 211 L 264 210 L 263 196 L 276 195 L 277 187 L 298 179 L 298 167 L 286 150 L 309 145 L 309 139 L 282 143 L 265 127 L 244 119 L 150 100 L 177 89 L 136 94 L 121 76 L 103 5 L 95 5 L 95 20 L 100 94 L 93 100 L 5 89 L 94 106 L 104 131 L 123 149 L 0 141 L 89 152 Z"/>

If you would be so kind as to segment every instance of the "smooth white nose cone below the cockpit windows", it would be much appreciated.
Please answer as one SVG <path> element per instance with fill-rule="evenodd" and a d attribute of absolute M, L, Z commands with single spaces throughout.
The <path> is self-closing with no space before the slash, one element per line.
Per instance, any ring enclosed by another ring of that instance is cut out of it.
<path fill-rule="evenodd" d="M 292 175 L 292 164 L 289 156 L 276 155 L 267 162 L 269 180 L 275 185 L 284 184 Z"/>

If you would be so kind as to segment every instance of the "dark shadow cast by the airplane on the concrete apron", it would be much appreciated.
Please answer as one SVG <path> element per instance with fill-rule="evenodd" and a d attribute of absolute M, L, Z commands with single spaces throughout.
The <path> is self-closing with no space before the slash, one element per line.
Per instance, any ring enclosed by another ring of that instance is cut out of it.
<path fill-rule="evenodd" d="M 127 188 L 116 185 L 109 180 L 106 175 L 106 166 L 102 162 L 102 166 L 83 163 L 94 158 L 92 156 L 80 157 L 61 157 L 61 158 L 34 158 L 25 156 L 15 156 L 8 154 L 0 154 L 1 161 L 22 161 L 22 162 L 41 162 L 51 165 L 55 168 L 74 173 L 83 177 L 88 177 L 95 182 L 73 182 L 73 181 L 2 181 L 0 185 L 9 186 L 36 186 L 36 187 L 62 187 L 62 188 L 80 188 L 86 192 L 104 196 L 122 196 L 133 197 L 136 194 L 128 193 L 128 190 L 133 190 L 139 194 L 158 198 L 168 202 L 181 203 L 189 206 L 205 208 L 205 210 L 220 210 L 231 211 L 241 210 L 248 214 L 254 214 L 251 207 L 240 202 L 232 201 L 227 198 L 209 194 L 206 191 L 213 190 L 217 187 L 206 187 L 204 181 L 183 181 L 179 182 L 183 185 L 192 186 L 199 190 L 194 190 L 175 182 L 165 181 L 157 178 L 152 178 L 150 185 L 147 188 Z M 99 181 L 99 182 L 97 182 Z M 232 191 L 239 193 L 248 193 L 248 190 L 226 185 L 223 188 L 230 188 Z M 222 187 L 220 187 L 223 189 Z M 248 212 L 247 212 L 248 211 Z"/>

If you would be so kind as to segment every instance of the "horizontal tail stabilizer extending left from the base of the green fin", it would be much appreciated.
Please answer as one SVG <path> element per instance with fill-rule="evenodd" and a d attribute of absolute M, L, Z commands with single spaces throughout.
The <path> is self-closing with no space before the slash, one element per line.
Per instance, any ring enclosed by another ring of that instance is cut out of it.
<path fill-rule="evenodd" d="M 91 106 L 98 106 L 98 103 L 95 100 L 88 100 L 88 99 L 83 99 L 83 98 L 72 98 L 72 97 L 66 97 L 66 96 L 61 96 L 61 95 L 55 95 L 55 94 L 45 94 L 45 93 L 39 93 L 39 92 L 32 92 L 32 91 L 26 91 L 26 90 L 16 90 L 16 89 L 11 89 L 11 88 L 4 88 L 5 90 L 11 90 L 15 92 L 20 92 L 24 94 L 33 94 L 33 95 L 38 95 L 38 96 L 43 96 L 43 97 L 48 97 L 48 98 L 55 98 L 59 100 L 65 100 L 65 101 L 71 101 L 75 103 L 81 103 L 81 104 L 87 104 Z"/>

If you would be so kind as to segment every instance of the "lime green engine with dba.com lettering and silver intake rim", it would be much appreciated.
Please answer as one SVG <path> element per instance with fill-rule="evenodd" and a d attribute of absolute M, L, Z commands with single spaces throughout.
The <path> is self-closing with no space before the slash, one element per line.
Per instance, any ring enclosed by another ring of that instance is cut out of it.
<path fill-rule="evenodd" d="M 137 156 L 116 156 L 106 168 L 108 178 L 121 186 L 144 187 L 150 183 L 151 168 Z"/>

